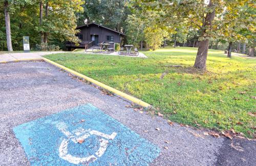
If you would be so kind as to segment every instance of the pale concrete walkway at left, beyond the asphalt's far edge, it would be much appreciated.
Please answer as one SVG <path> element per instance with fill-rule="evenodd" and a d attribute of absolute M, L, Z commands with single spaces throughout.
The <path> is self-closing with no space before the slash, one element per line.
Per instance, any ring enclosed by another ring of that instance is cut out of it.
<path fill-rule="evenodd" d="M 0 54 L 0 62 L 23 60 L 23 59 L 38 59 L 38 58 L 42 58 L 41 56 L 45 56 L 48 54 L 63 53 L 63 52 L 65 51 L 4 53 L 4 54 Z"/>

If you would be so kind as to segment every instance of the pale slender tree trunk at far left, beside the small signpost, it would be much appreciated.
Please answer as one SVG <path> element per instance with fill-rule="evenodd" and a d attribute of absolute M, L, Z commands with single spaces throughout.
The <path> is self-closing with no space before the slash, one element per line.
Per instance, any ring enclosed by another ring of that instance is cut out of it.
<path fill-rule="evenodd" d="M 12 39 L 11 39 L 11 24 L 10 24 L 10 15 L 9 15 L 9 3 L 8 1 L 4 2 L 5 4 L 5 29 L 6 29 L 6 41 L 8 51 L 13 51 L 12 49 Z"/>

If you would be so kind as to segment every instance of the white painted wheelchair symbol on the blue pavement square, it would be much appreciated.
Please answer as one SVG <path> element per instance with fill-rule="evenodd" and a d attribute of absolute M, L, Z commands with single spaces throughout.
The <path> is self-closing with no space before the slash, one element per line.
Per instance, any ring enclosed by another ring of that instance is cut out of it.
<path fill-rule="evenodd" d="M 68 126 L 66 125 L 66 123 L 62 123 L 62 122 L 57 123 L 56 127 L 64 135 L 67 136 L 67 139 L 63 139 L 63 141 L 59 146 L 59 157 L 73 164 L 84 163 L 84 162 L 87 162 L 87 163 L 94 162 L 104 154 L 106 147 L 108 146 L 108 143 L 109 143 L 108 140 L 113 140 L 117 135 L 117 133 L 115 132 L 113 132 L 111 135 L 108 135 L 96 130 L 92 130 L 92 129 L 85 130 L 83 128 L 78 128 L 70 132 L 67 130 Z M 78 143 L 78 140 L 86 140 L 90 135 L 93 135 L 93 134 L 101 137 L 101 139 L 98 140 L 100 142 L 100 147 L 98 151 L 95 152 L 95 154 L 92 154 L 87 157 L 75 157 L 68 153 L 68 144 L 70 140 L 73 141 L 74 143 Z"/>

